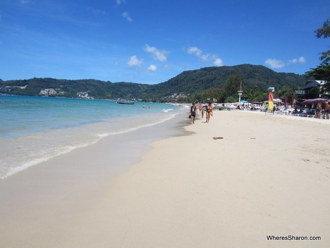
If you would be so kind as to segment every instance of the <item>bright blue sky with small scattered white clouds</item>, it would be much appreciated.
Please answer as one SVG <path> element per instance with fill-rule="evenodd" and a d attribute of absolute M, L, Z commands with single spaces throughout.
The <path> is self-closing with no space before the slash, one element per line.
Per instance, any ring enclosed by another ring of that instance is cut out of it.
<path fill-rule="evenodd" d="M 0 0 L 0 78 L 160 83 L 210 66 L 303 74 L 329 1 Z"/>

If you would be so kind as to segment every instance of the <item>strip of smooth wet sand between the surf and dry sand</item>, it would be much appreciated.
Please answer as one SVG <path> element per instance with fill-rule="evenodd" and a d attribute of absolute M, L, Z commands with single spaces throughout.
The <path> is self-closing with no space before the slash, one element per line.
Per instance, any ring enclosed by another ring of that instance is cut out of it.
<path fill-rule="evenodd" d="M 68 218 L 82 218 L 103 199 L 114 178 L 151 149 L 150 142 L 187 135 L 183 116 L 179 113 L 157 125 L 104 137 L 1 180 L 0 246 L 36 246 L 27 242 L 30 235 L 46 227 L 51 234 Z"/>

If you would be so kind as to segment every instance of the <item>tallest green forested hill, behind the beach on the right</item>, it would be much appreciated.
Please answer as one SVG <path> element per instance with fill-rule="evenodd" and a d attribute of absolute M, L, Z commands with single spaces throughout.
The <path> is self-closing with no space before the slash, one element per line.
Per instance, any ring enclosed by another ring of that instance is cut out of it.
<path fill-rule="evenodd" d="M 167 82 L 152 85 L 147 92 L 157 94 L 157 97 L 169 96 L 173 93 L 194 94 L 208 88 L 221 87 L 230 76 L 243 79 L 244 88 L 258 86 L 266 90 L 268 87 L 284 85 L 303 86 L 306 77 L 294 73 L 278 73 L 264 66 L 238 65 L 222 67 L 206 67 L 199 70 L 185 71 Z"/>

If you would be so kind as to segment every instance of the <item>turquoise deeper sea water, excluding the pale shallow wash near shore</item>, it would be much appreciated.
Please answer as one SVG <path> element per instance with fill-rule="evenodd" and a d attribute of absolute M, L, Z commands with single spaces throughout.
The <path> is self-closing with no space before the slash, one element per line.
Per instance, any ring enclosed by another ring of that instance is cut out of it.
<path fill-rule="evenodd" d="M 155 103 L 120 105 L 115 101 L 0 96 L 0 138 L 19 137 L 42 130 L 69 128 L 119 117 L 174 110 Z M 146 109 L 141 106 L 145 104 Z M 150 106 L 150 109 L 148 108 Z"/>

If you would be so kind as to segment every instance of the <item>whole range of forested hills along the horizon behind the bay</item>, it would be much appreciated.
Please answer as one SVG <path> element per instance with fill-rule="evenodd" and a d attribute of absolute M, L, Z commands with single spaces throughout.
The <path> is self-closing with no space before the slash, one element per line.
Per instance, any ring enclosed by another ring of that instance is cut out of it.
<path fill-rule="evenodd" d="M 0 81 L 0 93 L 29 96 L 59 96 L 97 99 L 160 100 L 173 94 L 195 94 L 209 88 L 220 88 L 229 78 L 242 79 L 243 89 L 257 86 L 266 90 L 269 86 L 303 86 L 306 78 L 294 73 L 277 73 L 264 66 L 238 65 L 206 67 L 184 71 L 170 80 L 148 85 L 138 83 L 100 81 L 94 79 L 66 80 L 33 78 L 28 80 Z"/>

